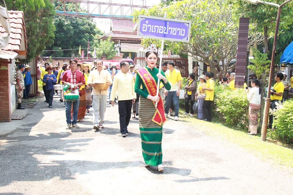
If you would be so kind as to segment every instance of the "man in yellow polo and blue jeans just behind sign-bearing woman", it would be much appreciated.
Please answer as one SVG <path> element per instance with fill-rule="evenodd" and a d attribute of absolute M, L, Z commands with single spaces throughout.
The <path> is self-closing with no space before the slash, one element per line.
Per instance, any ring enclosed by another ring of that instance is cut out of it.
<path fill-rule="evenodd" d="M 168 62 L 168 70 L 165 72 L 165 76 L 171 85 L 171 89 L 167 91 L 166 102 L 165 102 L 165 115 L 168 117 L 169 107 L 171 100 L 175 108 L 174 120 L 178 121 L 179 115 L 179 90 L 181 87 L 181 73 L 179 70 L 174 68 L 174 62 Z"/>

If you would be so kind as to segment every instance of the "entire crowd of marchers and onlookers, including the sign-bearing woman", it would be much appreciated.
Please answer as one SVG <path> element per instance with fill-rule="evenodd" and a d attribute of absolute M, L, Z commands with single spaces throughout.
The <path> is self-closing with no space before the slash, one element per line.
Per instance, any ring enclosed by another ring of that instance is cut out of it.
<path fill-rule="evenodd" d="M 92 64 L 71 59 L 69 64 L 63 62 L 60 67 L 56 65 L 38 63 L 37 76 L 42 80 L 45 102 L 52 108 L 53 95 L 60 94 L 60 101 L 64 102 L 66 115 L 66 129 L 79 128 L 77 122 L 82 122 L 85 115 L 89 114 L 92 106 L 93 129 L 103 129 L 104 114 L 107 104 L 107 90 L 109 88 L 109 104 L 112 106 L 118 100 L 118 113 L 121 137 L 128 134 L 128 124 L 131 119 L 139 119 L 141 134 L 142 154 L 146 166 L 155 165 L 158 171 L 163 171 L 162 165 L 162 128 L 170 119 L 169 115 L 179 120 L 179 94 L 182 86 L 182 76 L 175 69 L 174 62 L 164 62 L 161 70 L 157 68 L 157 51 L 155 48 L 146 51 L 145 60 L 147 66 L 129 65 L 127 61 L 120 62 L 117 66 L 109 65 L 108 69 L 102 60 L 96 60 Z M 21 106 L 21 98 L 27 98 L 30 93 L 32 80 L 29 72 L 30 66 L 21 64 L 16 72 L 16 92 L 18 109 Z M 199 82 L 195 75 L 189 74 L 184 86 L 185 112 L 184 114 L 196 115 L 198 119 L 211 122 L 211 106 L 214 101 L 215 80 L 212 72 L 206 72 L 199 76 Z M 157 84 L 158 79 L 160 83 Z M 277 73 L 276 84 L 270 90 L 272 109 L 276 109 L 277 102 L 285 101 L 293 92 L 293 77 L 290 81 L 286 75 Z M 222 85 L 235 90 L 235 73 L 228 72 L 219 82 Z M 78 89 L 78 100 L 69 100 L 64 96 L 63 90 L 54 89 L 57 85 L 68 85 L 68 89 Z M 260 83 L 257 79 L 251 80 L 251 88 L 246 89 L 249 101 L 249 127 L 251 135 L 257 134 L 258 113 L 261 103 Z M 156 94 L 159 87 L 159 95 Z M 245 87 L 245 86 L 244 86 Z M 291 87 L 291 89 L 290 89 Z M 196 101 L 196 108 L 194 102 Z M 132 113 L 131 113 L 132 110 Z M 173 113 L 174 110 L 174 113 Z M 133 114 L 133 115 L 132 115 Z M 272 128 L 273 115 L 269 116 L 269 128 Z"/>

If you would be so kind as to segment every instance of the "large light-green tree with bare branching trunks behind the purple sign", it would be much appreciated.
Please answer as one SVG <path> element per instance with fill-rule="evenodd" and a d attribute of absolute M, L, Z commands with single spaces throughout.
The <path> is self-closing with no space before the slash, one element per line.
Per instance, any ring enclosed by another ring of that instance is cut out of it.
<path fill-rule="evenodd" d="M 178 53 L 190 53 L 201 62 L 208 63 L 210 70 L 217 75 L 223 75 L 235 67 L 230 66 L 237 54 L 239 17 L 236 18 L 231 12 L 231 5 L 218 0 L 183 0 L 169 6 L 160 7 L 154 5 L 148 10 L 134 12 L 134 19 L 139 15 L 150 15 L 167 18 L 189 20 L 192 22 L 190 42 L 165 41 L 165 49 Z M 262 37 L 254 30 L 253 24 L 249 31 L 249 45 L 259 44 Z M 143 39 L 143 44 L 160 41 Z"/>

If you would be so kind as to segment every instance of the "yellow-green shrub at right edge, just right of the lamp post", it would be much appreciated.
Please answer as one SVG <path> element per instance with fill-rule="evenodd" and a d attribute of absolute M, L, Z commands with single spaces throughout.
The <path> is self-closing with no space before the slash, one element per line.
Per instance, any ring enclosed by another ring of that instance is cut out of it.
<path fill-rule="evenodd" d="M 281 140 L 287 144 L 293 144 L 293 99 L 283 102 L 277 106 L 274 115 L 274 131 L 269 133 L 269 137 Z"/>

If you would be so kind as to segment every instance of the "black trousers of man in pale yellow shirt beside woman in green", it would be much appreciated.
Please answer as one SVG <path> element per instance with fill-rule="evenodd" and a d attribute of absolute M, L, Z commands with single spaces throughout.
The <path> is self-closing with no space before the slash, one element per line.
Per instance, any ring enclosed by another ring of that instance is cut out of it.
<path fill-rule="evenodd" d="M 118 100 L 120 132 L 128 133 L 127 126 L 131 117 L 132 100 Z"/>

